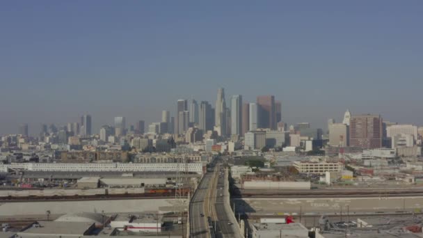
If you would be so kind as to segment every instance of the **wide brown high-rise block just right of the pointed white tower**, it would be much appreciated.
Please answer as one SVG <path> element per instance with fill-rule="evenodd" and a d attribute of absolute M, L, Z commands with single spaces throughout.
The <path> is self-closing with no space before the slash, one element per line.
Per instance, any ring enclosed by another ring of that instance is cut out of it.
<path fill-rule="evenodd" d="M 382 147 L 382 118 L 374 115 L 351 116 L 349 145 L 364 149 Z"/>

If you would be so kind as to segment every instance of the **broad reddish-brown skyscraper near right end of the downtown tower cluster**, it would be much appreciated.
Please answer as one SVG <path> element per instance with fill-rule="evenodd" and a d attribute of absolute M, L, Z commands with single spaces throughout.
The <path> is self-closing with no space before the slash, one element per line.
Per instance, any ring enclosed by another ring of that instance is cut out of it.
<path fill-rule="evenodd" d="M 257 97 L 257 116 L 259 128 L 276 129 L 275 96 Z"/>

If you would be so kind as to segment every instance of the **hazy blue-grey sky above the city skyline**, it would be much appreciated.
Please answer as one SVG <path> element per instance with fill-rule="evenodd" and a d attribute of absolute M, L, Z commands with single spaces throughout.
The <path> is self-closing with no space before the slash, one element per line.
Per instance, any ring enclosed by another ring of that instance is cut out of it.
<path fill-rule="evenodd" d="M 0 1 L 0 134 L 181 98 L 282 100 L 283 120 L 423 125 L 423 1 Z"/>

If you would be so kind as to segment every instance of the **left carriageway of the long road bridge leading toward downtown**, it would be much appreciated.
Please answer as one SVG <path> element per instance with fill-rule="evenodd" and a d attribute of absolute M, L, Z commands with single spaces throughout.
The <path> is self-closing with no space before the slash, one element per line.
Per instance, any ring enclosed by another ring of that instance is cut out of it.
<path fill-rule="evenodd" d="M 191 200 L 189 214 L 191 221 L 191 237 L 209 237 L 209 224 L 207 223 L 207 217 L 205 217 L 207 216 L 207 212 L 205 211 L 205 198 L 207 197 L 207 191 L 211 182 L 212 173 L 206 173 Z M 205 216 L 201 216 L 201 214 Z"/>

